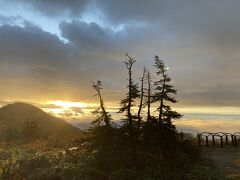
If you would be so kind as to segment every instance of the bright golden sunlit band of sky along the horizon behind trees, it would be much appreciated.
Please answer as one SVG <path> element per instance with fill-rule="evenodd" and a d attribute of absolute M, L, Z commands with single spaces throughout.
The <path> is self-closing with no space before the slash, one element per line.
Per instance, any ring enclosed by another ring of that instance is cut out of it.
<path fill-rule="evenodd" d="M 90 123 L 94 120 L 92 111 L 98 107 L 95 103 L 87 103 L 83 101 L 63 101 L 53 100 L 43 103 L 46 105 L 42 108 L 44 111 L 65 119 L 71 124 L 81 127 L 81 123 Z M 49 107 L 47 106 L 49 105 Z M 51 107 L 51 105 L 53 105 Z M 117 113 L 118 106 L 114 106 L 111 102 L 106 102 L 108 112 L 112 115 L 113 121 L 120 120 L 124 114 Z M 156 107 L 152 107 L 152 113 Z M 235 132 L 239 127 L 240 108 L 238 107 L 173 107 L 183 114 L 183 118 L 173 123 L 179 131 L 197 133 L 204 130 L 226 132 Z M 135 108 L 135 111 L 137 109 Z M 144 115 L 145 111 L 143 111 Z"/>

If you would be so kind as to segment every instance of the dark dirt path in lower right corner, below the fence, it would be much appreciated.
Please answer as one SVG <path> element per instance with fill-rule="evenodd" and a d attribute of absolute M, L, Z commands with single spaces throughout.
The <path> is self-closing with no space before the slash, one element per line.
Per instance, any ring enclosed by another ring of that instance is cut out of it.
<path fill-rule="evenodd" d="M 204 148 L 203 153 L 228 178 L 240 179 L 240 147 Z"/>

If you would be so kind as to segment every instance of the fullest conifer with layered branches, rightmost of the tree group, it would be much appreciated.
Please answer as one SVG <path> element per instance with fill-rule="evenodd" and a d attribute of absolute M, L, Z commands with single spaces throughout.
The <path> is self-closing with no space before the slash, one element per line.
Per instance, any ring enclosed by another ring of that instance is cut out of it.
<path fill-rule="evenodd" d="M 177 90 L 170 85 L 171 78 L 167 75 L 167 68 L 158 56 L 155 56 L 154 67 L 157 69 L 157 75 L 159 77 L 158 81 L 154 82 L 156 86 L 154 101 L 159 102 L 158 106 L 158 123 L 161 125 L 163 123 L 167 124 L 169 128 L 173 128 L 172 119 L 181 118 L 181 114 L 171 109 L 169 103 L 176 103 L 177 100 L 172 95 L 177 93 Z"/>

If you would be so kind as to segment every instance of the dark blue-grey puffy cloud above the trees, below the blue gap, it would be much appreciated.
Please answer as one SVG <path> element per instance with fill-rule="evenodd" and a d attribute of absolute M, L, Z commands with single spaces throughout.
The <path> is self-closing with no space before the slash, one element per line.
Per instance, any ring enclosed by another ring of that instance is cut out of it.
<path fill-rule="evenodd" d="M 123 29 L 114 30 L 97 23 L 79 20 L 63 21 L 59 27 L 62 37 L 78 47 L 81 55 L 88 54 L 106 59 L 119 60 L 121 58 L 123 60 L 126 52 L 137 54 L 156 44 L 154 35 L 157 33 L 152 27 L 126 25 Z M 158 40 L 164 43 L 166 38 L 159 37 Z"/>

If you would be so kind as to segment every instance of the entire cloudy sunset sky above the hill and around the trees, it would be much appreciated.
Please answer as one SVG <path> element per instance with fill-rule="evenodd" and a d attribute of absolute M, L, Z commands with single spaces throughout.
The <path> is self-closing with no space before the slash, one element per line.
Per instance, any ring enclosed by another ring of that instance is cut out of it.
<path fill-rule="evenodd" d="M 115 111 L 126 92 L 125 53 L 137 60 L 135 81 L 144 66 L 155 76 L 158 55 L 185 120 L 240 127 L 240 1 L 0 0 L 0 7 L 2 105 L 25 101 L 91 119 L 92 81 L 103 82 Z"/>

